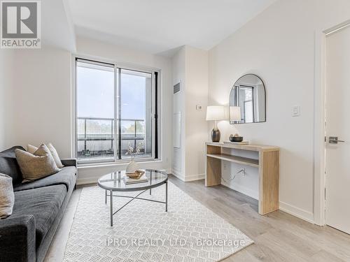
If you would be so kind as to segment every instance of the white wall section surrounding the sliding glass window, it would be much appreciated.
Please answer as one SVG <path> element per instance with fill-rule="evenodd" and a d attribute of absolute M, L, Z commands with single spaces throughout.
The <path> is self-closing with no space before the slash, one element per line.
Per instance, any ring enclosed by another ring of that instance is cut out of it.
<path fill-rule="evenodd" d="M 77 54 L 92 57 L 101 57 L 117 63 L 134 64 L 161 69 L 162 95 L 162 161 L 140 163 L 141 168 L 172 170 L 172 61 L 167 57 L 155 54 L 120 48 L 116 45 L 95 41 L 89 38 L 78 37 L 76 40 Z M 125 169 L 126 164 L 97 168 L 80 168 L 78 183 L 96 182 L 104 173 Z"/>

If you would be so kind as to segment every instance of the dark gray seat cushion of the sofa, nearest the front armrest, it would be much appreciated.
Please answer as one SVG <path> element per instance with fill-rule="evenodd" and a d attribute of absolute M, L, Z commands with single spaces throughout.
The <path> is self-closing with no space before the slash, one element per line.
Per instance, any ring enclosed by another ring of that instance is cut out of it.
<path fill-rule="evenodd" d="M 52 226 L 66 197 L 63 184 L 15 192 L 11 218 L 32 214 L 35 218 L 36 248 Z"/>

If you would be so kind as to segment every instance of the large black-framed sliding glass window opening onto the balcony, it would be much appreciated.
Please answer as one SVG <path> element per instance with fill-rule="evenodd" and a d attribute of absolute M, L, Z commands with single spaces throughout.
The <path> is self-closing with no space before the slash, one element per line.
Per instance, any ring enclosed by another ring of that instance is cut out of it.
<path fill-rule="evenodd" d="M 158 72 L 76 59 L 79 163 L 158 159 Z"/>

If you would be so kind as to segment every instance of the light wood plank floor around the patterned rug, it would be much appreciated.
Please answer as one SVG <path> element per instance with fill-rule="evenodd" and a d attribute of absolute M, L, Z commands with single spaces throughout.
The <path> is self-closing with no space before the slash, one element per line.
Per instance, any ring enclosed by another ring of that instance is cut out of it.
<path fill-rule="evenodd" d="M 254 240 L 225 262 L 350 261 L 350 235 L 281 211 L 262 217 L 257 213 L 258 201 L 227 187 L 204 187 L 204 180 L 185 183 L 174 176 L 169 180 Z M 81 187 L 73 192 L 45 262 L 62 261 L 80 193 Z"/>

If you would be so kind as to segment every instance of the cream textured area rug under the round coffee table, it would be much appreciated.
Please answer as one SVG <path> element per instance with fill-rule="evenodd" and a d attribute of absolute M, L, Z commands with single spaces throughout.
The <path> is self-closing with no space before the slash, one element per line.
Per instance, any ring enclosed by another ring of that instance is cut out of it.
<path fill-rule="evenodd" d="M 114 215 L 111 227 L 104 190 L 83 188 L 64 261 L 221 261 L 253 243 L 171 182 L 168 192 L 168 212 L 162 203 L 134 200 Z M 165 186 L 140 197 L 164 201 Z M 114 197 L 113 207 L 128 200 Z"/>

